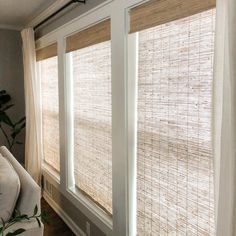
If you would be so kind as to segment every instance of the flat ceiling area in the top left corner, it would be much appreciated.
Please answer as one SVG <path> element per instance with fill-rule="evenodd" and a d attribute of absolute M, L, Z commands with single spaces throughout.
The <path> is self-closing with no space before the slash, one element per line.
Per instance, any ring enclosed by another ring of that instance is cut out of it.
<path fill-rule="evenodd" d="M 58 0 L 0 0 L 0 28 L 22 29 Z"/>

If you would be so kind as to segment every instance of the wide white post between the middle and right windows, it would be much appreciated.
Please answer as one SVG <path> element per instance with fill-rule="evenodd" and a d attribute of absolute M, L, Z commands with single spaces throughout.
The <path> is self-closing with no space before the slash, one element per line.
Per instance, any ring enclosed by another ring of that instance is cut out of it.
<path fill-rule="evenodd" d="M 123 0 L 122 0 L 123 3 Z M 127 13 L 114 1 L 111 14 L 113 234 L 129 235 L 127 132 Z"/>

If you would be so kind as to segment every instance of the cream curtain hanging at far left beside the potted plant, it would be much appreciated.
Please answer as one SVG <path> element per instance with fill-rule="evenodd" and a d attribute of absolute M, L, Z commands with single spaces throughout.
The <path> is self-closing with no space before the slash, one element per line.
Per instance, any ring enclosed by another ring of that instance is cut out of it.
<path fill-rule="evenodd" d="M 35 40 L 32 28 L 21 32 L 26 104 L 25 166 L 33 179 L 41 179 L 40 83 L 36 73 Z"/>

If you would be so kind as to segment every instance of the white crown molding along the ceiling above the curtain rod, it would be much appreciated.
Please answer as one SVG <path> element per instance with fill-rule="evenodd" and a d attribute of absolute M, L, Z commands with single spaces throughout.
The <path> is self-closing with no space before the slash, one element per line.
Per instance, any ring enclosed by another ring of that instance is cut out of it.
<path fill-rule="evenodd" d="M 51 14 L 59 10 L 61 7 L 63 7 L 65 4 L 70 2 L 70 0 L 57 0 L 55 3 L 53 3 L 51 6 L 49 6 L 46 10 L 41 12 L 40 14 L 33 17 L 33 20 L 31 20 L 26 27 L 35 27 L 37 24 L 45 20 L 47 17 L 49 17 Z"/>

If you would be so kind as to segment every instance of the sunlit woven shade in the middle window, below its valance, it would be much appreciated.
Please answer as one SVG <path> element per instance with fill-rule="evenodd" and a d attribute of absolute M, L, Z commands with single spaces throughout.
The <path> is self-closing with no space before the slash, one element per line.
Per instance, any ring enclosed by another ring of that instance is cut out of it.
<path fill-rule="evenodd" d="M 76 186 L 112 213 L 110 41 L 72 52 Z"/>

